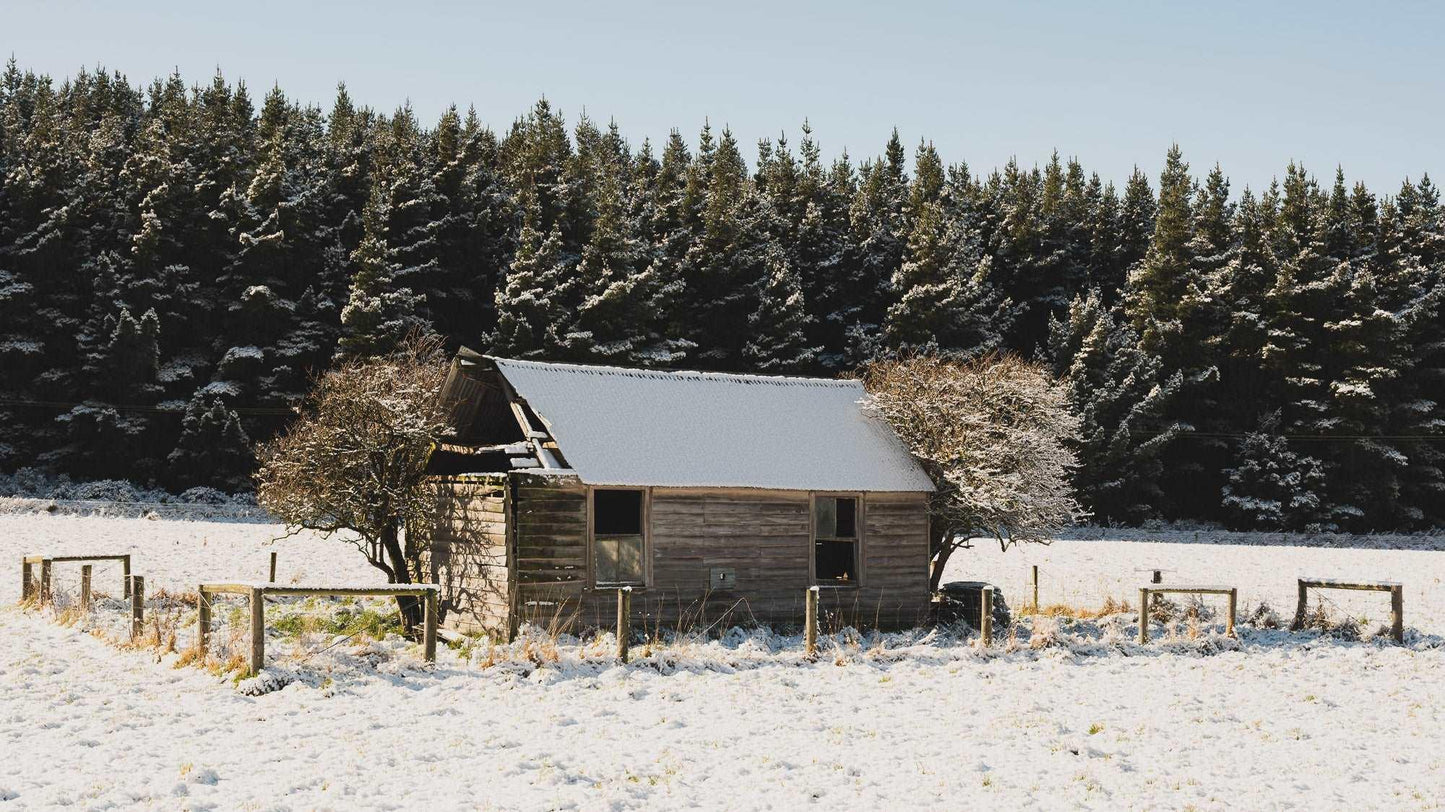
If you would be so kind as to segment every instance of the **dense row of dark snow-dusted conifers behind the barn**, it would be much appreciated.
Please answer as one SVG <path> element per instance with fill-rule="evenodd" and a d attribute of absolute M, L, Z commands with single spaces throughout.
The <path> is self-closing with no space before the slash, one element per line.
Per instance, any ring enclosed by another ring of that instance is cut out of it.
<path fill-rule="evenodd" d="M 910 155 L 912 153 L 912 155 Z M 1157 189 L 805 126 L 630 143 L 546 101 L 329 111 L 217 75 L 0 77 L 0 468 L 247 485 L 309 376 L 413 325 L 491 353 L 845 374 L 1013 351 L 1069 381 L 1098 520 L 1439 526 L 1445 215 L 1173 149 Z"/>

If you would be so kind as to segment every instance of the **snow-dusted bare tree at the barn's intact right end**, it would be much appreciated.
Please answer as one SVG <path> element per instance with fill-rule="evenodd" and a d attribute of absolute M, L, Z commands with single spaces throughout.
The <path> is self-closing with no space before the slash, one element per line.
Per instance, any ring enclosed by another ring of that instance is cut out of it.
<path fill-rule="evenodd" d="M 863 381 L 868 410 L 893 426 L 938 488 L 932 588 L 970 537 L 993 536 L 1004 549 L 1046 543 L 1085 516 L 1069 485 L 1079 420 L 1068 389 L 1042 366 L 1012 355 L 915 357 L 877 361 Z"/>

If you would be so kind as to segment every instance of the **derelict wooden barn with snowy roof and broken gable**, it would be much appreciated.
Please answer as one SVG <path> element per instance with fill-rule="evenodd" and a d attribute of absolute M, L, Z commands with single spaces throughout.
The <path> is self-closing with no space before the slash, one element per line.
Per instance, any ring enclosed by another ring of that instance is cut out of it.
<path fill-rule="evenodd" d="M 425 537 L 447 626 L 923 620 L 928 475 L 851 380 L 669 373 L 462 350 Z M 725 617 L 724 617 L 725 616 Z"/>

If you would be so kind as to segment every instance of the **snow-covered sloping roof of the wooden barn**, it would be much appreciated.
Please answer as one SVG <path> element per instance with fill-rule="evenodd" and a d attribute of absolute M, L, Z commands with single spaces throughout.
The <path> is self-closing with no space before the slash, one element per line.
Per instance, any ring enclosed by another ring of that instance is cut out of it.
<path fill-rule="evenodd" d="M 588 484 L 933 490 L 858 381 L 491 361 Z"/>

